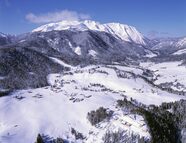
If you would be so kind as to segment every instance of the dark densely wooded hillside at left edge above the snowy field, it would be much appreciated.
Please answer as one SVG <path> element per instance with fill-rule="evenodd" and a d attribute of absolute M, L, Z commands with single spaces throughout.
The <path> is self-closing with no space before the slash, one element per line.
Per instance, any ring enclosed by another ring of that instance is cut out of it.
<path fill-rule="evenodd" d="M 42 53 L 28 48 L 0 49 L 0 80 L 2 89 L 16 90 L 47 86 L 47 75 L 64 68 Z"/>

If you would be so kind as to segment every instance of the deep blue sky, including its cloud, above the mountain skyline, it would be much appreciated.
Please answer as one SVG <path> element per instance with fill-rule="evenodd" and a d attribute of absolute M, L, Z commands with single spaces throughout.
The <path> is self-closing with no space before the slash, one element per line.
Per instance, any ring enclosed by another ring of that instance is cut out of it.
<path fill-rule="evenodd" d="M 4 33 L 64 19 L 120 22 L 151 37 L 186 36 L 186 0 L 0 0 Z"/>

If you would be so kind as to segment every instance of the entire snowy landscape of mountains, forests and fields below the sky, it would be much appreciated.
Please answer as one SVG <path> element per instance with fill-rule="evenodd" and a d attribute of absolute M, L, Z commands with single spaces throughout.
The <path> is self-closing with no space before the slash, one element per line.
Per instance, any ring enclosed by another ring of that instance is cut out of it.
<path fill-rule="evenodd" d="M 0 143 L 184 143 L 184 42 L 94 21 L 0 35 Z"/>

